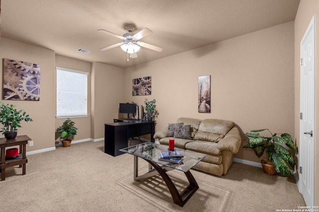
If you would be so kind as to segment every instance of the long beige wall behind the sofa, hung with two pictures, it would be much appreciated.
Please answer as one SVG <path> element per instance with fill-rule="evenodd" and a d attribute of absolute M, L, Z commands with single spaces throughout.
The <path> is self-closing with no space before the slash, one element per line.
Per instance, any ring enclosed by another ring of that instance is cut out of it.
<path fill-rule="evenodd" d="M 149 75 L 152 95 L 132 96 L 132 79 Z M 211 113 L 197 109 L 202 75 L 211 75 Z M 294 22 L 126 69 L 124 100 L 145 98 L 157 100 L 156 130 L 178 117 L 216 118 L 243 133 L 269 128 L 294 137 Z M 250 149 L 235 157 L 260 161 Z"/>

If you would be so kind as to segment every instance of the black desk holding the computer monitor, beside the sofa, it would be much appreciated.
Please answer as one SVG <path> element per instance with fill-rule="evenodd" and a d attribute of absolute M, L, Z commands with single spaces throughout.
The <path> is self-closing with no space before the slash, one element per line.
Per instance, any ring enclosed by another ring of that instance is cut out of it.
<path fill-rule="evenodd" d="M 125 153 L 119 149 L 128 147 L 129 138 L 151 134 L 151 141 L 155 142 L 155 121 L 115 119 L 104 126 L 104 152 L 112 156 Z"/>

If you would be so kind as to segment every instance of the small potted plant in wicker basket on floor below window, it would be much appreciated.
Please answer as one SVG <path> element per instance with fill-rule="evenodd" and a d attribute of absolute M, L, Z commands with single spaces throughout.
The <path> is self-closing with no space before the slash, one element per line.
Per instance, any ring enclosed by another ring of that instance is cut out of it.
<path fill-rule="evenodd" d="M 63 125 L 59 127 L 56 132 L 61 134 L 63 147 L 71 145 L 71 141 L 76 135 L 77 128 L 74 127 L 75 123 L 71 119 L 67 119 L 63 122 Z"/>

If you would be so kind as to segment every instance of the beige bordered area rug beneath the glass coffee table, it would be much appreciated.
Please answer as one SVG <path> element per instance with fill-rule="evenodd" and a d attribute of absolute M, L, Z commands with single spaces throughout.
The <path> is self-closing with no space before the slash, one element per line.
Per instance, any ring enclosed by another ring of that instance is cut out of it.
<path fill-rule="evenodd" d="M 148 166 L 140 169 L 139 173 L 146 173 L 147 171 Z M 193 173 L 196 171 L 191 170 L 191 172 Z M 172 170 L 167 172 L 167 174 L 179 192 L 188 185 L 187 178 L 183 172 Z M 215 185 L 212 182 L 206 182 L 200 178 L 200 175 L 197 175 L 195 179 L 199 189 L 183 207 L 173 203 L 169 190 L 160 175 L 140 181 L 134 181 L 133 173 L 131 173 L 117 180 L 116 183 L 130 191 L 133 197 L 138 196 L 141 200 L 158 207 L 159 211 L 225 211 L 227 201 L 231 196 L 231 191 L 221 186 Z"/>

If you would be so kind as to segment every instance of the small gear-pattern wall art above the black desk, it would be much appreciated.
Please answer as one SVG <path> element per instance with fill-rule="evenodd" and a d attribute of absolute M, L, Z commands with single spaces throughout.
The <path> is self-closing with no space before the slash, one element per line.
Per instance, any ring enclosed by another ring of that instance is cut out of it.
<path fill-rule="evenodd" d="M 152 77 L 145 76 L 133 79 L 132 94 L 133 96 L 151 95 L 152 92 Z"/>

